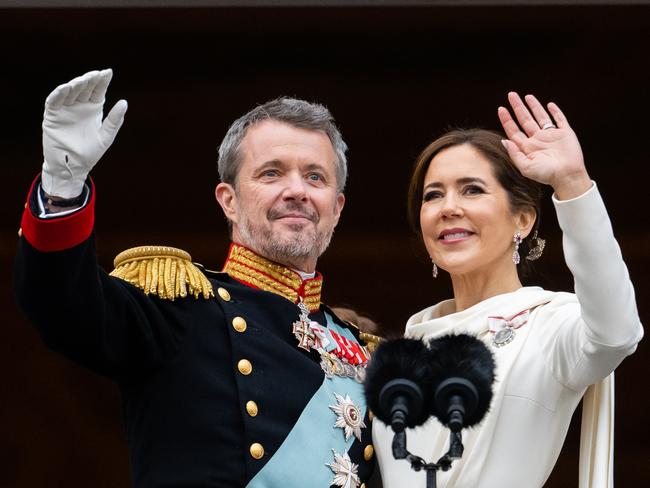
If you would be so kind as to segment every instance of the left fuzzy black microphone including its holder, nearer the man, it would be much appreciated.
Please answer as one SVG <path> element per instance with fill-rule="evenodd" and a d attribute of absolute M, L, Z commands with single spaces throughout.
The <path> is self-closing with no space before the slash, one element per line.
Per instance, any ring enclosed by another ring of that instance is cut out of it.
<path fill-rule="evenodd" d="M 428 349 L 418 339 L 382 342 L 372 355 L 364 382 L 368 408 L 395 433 L 423 424 L 430 416 L 425 395 L 432 390 Z"/>

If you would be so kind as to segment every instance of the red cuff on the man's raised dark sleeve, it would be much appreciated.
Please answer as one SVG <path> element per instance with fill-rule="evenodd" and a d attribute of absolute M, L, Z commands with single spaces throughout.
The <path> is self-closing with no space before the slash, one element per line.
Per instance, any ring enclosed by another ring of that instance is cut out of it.
<path fill-rule="evenodd" d="M 95 184 L 90 180 L 90 198 L 78 212 L 63 217 L 41 219 L 34 214 L 34 198 L 38 195 L 38 175 L 27 196 L 27 203 L 21 220 L 23 237 L 41 252 L 54 252 L 70 249 L 90 237 L 95 224 Z"/>

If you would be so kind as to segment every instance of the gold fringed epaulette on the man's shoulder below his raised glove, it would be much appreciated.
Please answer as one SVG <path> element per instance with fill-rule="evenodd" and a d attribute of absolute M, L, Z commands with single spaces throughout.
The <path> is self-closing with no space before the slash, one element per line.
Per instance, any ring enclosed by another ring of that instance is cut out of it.
<path fill-rule="evenodd" d="M 214 296 L 212 285 L 182 249 L 168 246 L 140 246 L 122 251 L 113 260 L 111 276 L 128 281 L 147 295 L 164 300 L 208 299 Z"/>

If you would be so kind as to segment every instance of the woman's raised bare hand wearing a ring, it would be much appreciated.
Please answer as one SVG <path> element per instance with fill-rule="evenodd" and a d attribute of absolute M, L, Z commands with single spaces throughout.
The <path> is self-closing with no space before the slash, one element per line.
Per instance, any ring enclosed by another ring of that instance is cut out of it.
<path fill-rule="evenodd" d="M 547 112 L 533 95 L 524 98 L 526 103 L 517 93 L 508 93 L 519 124 L 507 108 L 498 109 L 510 158 L 524 176 L 551 185 L 560 200 L 582 195 L 591 188 L 591 179 L 575 132 L 556 104 L 549 103 Z"/>

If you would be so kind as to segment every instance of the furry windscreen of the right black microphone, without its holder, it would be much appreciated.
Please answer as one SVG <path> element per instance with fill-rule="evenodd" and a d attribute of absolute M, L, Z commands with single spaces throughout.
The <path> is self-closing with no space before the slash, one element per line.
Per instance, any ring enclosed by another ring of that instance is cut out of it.
<path fill-rule="evenodd" d="M 433 388 L 435 391 L 441 382 L 448 378 L 460 377 L 472 383 L 478 391 L 478 404 L 473 411 L 468 411 L 464 426 L 476 425 L 485 416 L 492 401 L 492 384 L 494 382 L 494 357 L 487 346 L 476 337 L 467 334 L 446 335 L 429 342 L 429 364 L 433 371 Z M 425 400 L 431 407 L 429 413 L 445 423 L 446 412 L 436 408 L 432 398 Z"/>

